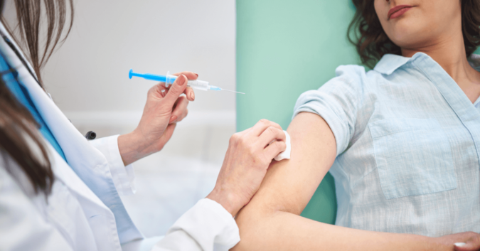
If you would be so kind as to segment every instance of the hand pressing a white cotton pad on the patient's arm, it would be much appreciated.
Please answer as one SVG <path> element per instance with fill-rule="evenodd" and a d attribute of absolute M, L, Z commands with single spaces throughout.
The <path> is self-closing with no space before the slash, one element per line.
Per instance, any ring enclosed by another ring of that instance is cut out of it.
<path fill-rule="evenodd" d="M 286 147 L 282 127 L 267 119 L 233 134 L 215 188 L 207 198 L 235 216 L 257 193 L 272 159 Z"/>

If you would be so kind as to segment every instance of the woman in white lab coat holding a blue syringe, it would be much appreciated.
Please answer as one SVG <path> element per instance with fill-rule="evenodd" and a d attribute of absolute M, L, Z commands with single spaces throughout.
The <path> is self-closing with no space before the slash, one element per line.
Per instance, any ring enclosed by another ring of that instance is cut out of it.
<path fill-rule="evenodd" d="M 0 139 L 0 250 L 119 251 L 122 245 L 142 240 L 120 196 L 133 193 L 131 164 L 159 151 L 175 123 L 186 116 L 188 101 L 180 95 L 186 93 L 193 100 L 186 80 L 196 75 L 179 75 L 169 90 L 152 87 L 139 127 L 131 134 L 87 141 L 43 90 L 36 70 L 3 24 L 0 33 L 3 66 L 11 68 L 2 71 L 0 84 L 16 83 L 24 90 L 63 153 L 29 127 L 45 143 L 54 174 L 50 193 L 41 193 Z M 15 78 L 4 77 L 9 73 Z M 0 117 L 0 130 L 8 123 Z M 268 145 L 271 141 L 274 144 Z M 281 128 L 266 120 L 234 134 L 212 193 L 181 216 L 151 249 L 227 250 L 236 245 L 240 235 L 233 216 L 255 194 L 270 161 L 285 149 L 284 141 Z M 37 156 L 38 145 L 31 144 L 31 151 Z"/>

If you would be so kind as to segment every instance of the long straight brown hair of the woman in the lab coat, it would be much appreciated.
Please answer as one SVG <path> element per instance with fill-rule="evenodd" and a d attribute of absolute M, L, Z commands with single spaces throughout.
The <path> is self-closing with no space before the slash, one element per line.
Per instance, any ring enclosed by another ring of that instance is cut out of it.
<path fill-rule="evenodd" d="M 20 34 L 16 41 L 23 41 L 26 45 L 23 51 L 28 55 L 40 84 L 40 70 L 59 43 L 65 26 L 67 1 L 70 1 L 70 12 L 73 15 L 72 0 L 15 0 L 18 24 L 14 30 L 18 29 Z M 3 6 L 4 0 L 0 0 L 0 14 L 3 13 Z M 45 11 L 42 11 L 43 9 Z M 40 34 L 43 15 L 46 16 L 46 34 Z M 6 24 L 3 15 L 1 20 Z M 73 20 L 73 16 L 70 20 Z M 70 21 L 68 32 L 71 27 Z M 40 47 L 40 35 L 42 39 L 46 39 L 43 49 Z M 4 75 L 13 72 L 14 69 L 0 73 L 0 154 L 4 159 L 0 166 L 4 166 L 10 173 L 15 173 L 7 161 L 7 156 L 10 156 L 31 181 L 36 193 L 43 192 L 48 195 L 54 181 L 51 163 L 37 129 L 39 125 L 6 86 Z"/>

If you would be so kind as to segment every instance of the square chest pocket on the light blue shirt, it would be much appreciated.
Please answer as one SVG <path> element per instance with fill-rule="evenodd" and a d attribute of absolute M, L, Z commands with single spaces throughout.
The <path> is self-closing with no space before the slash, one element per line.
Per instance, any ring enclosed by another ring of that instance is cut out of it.
<path fill-rule="evenodd" d="M 450 144 L 437 119 L 383 119 L 368 128 L 387 200 L 457 188 Z"/>

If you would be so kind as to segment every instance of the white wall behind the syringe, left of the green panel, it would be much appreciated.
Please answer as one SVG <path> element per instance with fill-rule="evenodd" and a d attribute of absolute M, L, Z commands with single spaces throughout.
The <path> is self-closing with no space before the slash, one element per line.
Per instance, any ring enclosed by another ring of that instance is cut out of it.
<path fill-rule="evenodd" d="M 75 1 L 73 30 L 43 80 L 74 124 L 137 122 L 155 82 L 140 73 L 190 70 L 235 90 L 235 1 Z M 235 119 L 235 94 L 196 91 L 189 117 Z M 208 119 L 206 119 L 208 120 Z"/>

